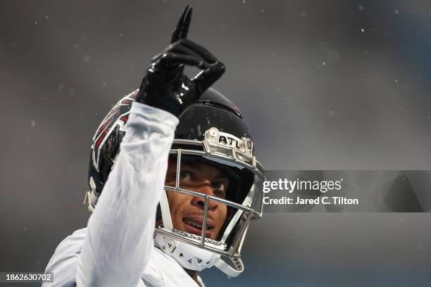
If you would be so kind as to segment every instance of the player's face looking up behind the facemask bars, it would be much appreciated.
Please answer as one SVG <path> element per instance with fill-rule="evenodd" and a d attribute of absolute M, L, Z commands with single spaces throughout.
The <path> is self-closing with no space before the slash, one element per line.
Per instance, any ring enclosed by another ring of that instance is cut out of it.
<path fill-rule="evenodd" d="M 176 165 L 169 165 L 165 184 L 175 186 Z M 225 198 L 229 179 L 217 167 L 205 162 L 184 162 L 181 165 L 180 187 L 199 193 Z M 204 222 L 204 198 L 175 191 L 168 192 L 170 215 L 175 229 L 201 236 Z M 208 202 L 206 238 L 217 238 L 225 223 L 227 206 Z"/>

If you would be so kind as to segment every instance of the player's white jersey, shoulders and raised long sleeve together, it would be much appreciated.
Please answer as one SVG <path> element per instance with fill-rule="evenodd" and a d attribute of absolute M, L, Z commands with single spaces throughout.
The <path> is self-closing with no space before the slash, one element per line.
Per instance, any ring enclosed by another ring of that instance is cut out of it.
<path fill-rule="evenodd" d="M 164 110 L 132 103 L 120 155 L 87 228 L 58 245 L 46 266 L 54 283 L 42 286 L 199 286 L 153 241 L 177 124 Z"/>

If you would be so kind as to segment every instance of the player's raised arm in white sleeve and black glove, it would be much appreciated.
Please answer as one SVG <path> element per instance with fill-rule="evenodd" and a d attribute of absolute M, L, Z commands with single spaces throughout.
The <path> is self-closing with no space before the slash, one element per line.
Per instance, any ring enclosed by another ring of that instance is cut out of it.
<path fill-rule="evenodd" d="M 223 63 L 186 38 L 191 15 L 187 6 L 173 43 L 146 70 L 120 154 L 88 222 L 77 286 L 135 287 L 144 272 L 177 117 L 224 72 Z M 183 74 L 185 65 L 202 71 L 189 79 Z"/>

